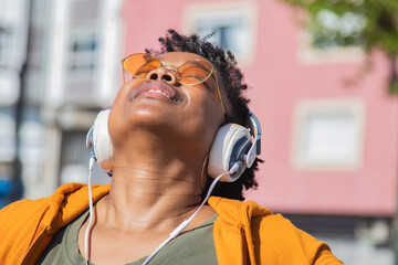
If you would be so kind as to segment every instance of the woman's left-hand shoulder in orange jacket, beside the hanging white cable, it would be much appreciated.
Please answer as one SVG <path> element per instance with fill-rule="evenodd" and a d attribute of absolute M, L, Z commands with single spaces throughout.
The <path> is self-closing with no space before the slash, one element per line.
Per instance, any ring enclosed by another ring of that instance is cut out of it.
<path fill-rule="evenodd" d="M 108 190 L 107 186 L 93 187 L 94 201 Z M 25 199 L 1 209 L 0 263 L 20 264 L 29 255 L 39 255 L 38 250 L 43 250 L 60 227 L 88 208 L 87 191 L 85 184 L 67 183 L 48 198 Z"/>

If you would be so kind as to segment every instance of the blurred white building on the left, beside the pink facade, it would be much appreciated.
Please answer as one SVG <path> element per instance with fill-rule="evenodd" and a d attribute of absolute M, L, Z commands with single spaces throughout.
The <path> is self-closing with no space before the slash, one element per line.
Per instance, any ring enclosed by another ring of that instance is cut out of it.
<path fill-rule="evenodd" d="M 19 121 L 18 155 L 23 165 L 23 197 L 39 198 L 50 195 L 65 182 L 86 182 L 86 132 L 96 113 L 111 106 L 119 85 L 117 68 L 123 42 L 118 41 L 122 26 L 118 12 L 122 1 L 31 0 L 28 3 L 0 1 L 11 10 L 4 18 L 13 23 L 10 22 L 11 32 L 15 32 L 13 39 L 3 38 L 6 33 L 0 35 L 0 43 L 9 44 L 14 40 L 8 50 L 0 50 L 1 67 L 1 55 L 7 54 L 12 61 L 7 71 L 13 71 L 7 72 L 8 78 L 4 78 L 6 71 L 0 68 L 0 106 L 6 104 L 2 100 L 9 106 L 15 105 L 19 97 L 15 92 L 22 83 L 23 115 Z M 3 13 L 0 24 L 3 24 Z M 28 55 L 19 54 L 27 51 L 27 43 Z M 25 59 L 27 67 L 20 80 L 19 72 Z M 0 110 L 0 121 L 8 125 L 7 129 L 0 128 L 0 135 L 8 137 L 0 137 L 0 159 L 7 153 L 12 160 L 17 149 L 12 148 L 15 137 L 11 131 L 17 121 L 8 110 Z M 97 183 L 108 181 L 105 173 L 102 179 L 94 180 Z"/>

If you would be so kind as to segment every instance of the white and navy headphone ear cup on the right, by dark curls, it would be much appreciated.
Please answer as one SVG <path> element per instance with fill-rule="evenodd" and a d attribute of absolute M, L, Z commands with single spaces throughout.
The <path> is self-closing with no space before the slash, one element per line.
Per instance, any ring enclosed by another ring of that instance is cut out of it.
<path fill-rule="evenodd" d="M 211 178 L 228 172 L 238 161 L 243 160 L 243 155 L 251 146 L 251 136 L 247 128 L 238 124 L 226 124 L 218 130 L 212 144 L 208 173 Z M 237 153 L 238 152 L 238 153 Z M 240 162 L 241 167 L 232 176 L 223 176 L 220 181 L 235 181 L 244 171 L 245 163 Z"/>

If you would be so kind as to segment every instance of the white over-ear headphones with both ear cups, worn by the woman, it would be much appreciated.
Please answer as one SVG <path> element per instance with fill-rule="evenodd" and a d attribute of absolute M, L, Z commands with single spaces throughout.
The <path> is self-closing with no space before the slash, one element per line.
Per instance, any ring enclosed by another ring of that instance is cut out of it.
<path fill-rule="evenodd" d="M 107 129 L 111 109 L 98 113 L 86 138 L 88 149 L 104 170 L 113 169 L 113 148 Z M 209 153 L 208 173 L 212 178 L 228 172 L 232 166 L 239 169 L 232 174 L 223 176 L 220 181 L 235 181 L 247 168 L 251 168 L 261 152 L 261 127 L 258 118 L 249 110 L 249 128 L 238 124 L 226 124 L 218 130 Z"/>

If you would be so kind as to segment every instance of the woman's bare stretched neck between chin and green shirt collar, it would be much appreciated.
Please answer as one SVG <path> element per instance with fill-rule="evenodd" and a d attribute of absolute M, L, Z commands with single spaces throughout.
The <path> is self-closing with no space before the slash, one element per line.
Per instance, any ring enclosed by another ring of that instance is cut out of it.
<path fill-rule="evenodd" d="M 98 222 L 102 220 L 126 231 L 172 231 L 202 201 L 203 162 L 165 159 L 160 153 L 145 159 L 142 153 L 128 163 L 116 163 L 109 194 L 97 204 L 98 215 L 102 215 Z M 197 225 L 214 213 L 209 210 L 200 211 Z"/>

